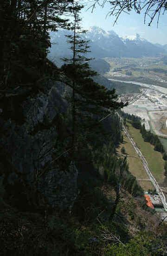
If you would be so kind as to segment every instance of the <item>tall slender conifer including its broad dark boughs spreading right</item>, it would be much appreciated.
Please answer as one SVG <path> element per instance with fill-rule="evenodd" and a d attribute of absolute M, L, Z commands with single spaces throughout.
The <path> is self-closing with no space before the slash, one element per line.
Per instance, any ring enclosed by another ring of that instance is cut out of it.
<path fill-rule="evenodd" d="M 90 69 L 87 57 L 90 51 L 88 41 L 83 39 L 86 33 L 80 27 L 80 11 L 83 6 L 78 1 L 72 1 L 69 8 L 73 16 L 71 35 L 67 35 L 71 44 L 71 58 L 64 58 L 62 70 L 68 77 L 67 83 L 71 86 L 72 105 L 72 146 L 76 144 L 79 134 L 85 134 L 86 138 L 92 127 L 98 129 L 98 121 L 108 109 L 121 108 L 123 104 L 116 102 L 115 90 L 107 90 L 105 87 L 95 83 L 92 79 L 97 73 Z M 97 131 L 97 130 L 96 130 Z M 95 134 L 95 133 L 94 133 Z M 91 136 L 92 139 L 92 136 Z"/>

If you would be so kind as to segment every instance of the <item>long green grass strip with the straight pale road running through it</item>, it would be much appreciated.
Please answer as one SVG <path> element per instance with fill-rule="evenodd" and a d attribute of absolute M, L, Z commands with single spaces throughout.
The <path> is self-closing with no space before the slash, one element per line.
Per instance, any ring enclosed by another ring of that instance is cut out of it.
<path fill-rule="evenodd" d="M 162 155 L 160 152 L 154 151 L 154 147 L 143 140 L 140 130 L 135 129 L 128 122 L 126 125 L 126 128 L 123 126 L 123 143 L 119 147 L 119 155 L 122 156 L 123 152 L 123 155 L 128 158 L 129 171 L 136 177 L 146 194 L 148 194 L 148 190 L 156 189 L 158 196 L 155 199 L 153 196 L 151 200 L 157 204 L 157 199 L 159 199 L 160 206 L 158 208 L 156 206 L 155 210 L 160 214 L 162 220 L 167 221 L 165 210 L 167 209 L 165 199 L 165 197 L 167 198 L 167 180 L 163 175 L 164 160 Z"/>

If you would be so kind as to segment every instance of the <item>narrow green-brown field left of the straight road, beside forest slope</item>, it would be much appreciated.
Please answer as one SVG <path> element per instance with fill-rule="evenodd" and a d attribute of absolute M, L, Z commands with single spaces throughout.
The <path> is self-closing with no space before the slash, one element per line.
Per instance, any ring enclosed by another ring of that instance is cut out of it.
<path fill-rule="evenodd" d="M 132 146 L 126 135 L 123 136 L 123 143 L 118 149 L 120 155 L 122 154 L 122 146 L 125 147 L 126 155 L 128 156 L 127 159 L 130 173 L 132 173 L 136 177 L 136 179 L 148 179 L 148 175 L 143 167 L 141 159 L 135 152 L 134 147 Z M 141 185 L 144 191 L 148 191 L 148 189 L 154 189 L 151 181 L 138 180 L 138 183 Z"/>

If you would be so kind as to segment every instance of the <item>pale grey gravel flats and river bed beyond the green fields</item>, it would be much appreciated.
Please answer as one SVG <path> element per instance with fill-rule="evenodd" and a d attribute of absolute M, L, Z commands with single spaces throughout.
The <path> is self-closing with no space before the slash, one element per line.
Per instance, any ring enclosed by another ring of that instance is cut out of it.
<path fill-rule="evenodd" d="M 115 81 L 115 79 L 110 80 Z M 122 82 L 121 80 L 119 81 Z M 121 96 L 123 101 L 127 99 L 133 101 L 133 98 L 136 97 L 135 102 L 124 107 L 123 111 L 140 117 L 141 122 L 145 124 L 146 130 L 151 130 L 162 138 L 161 142 L 167 152 L 167 89 L 133 81 L 124 81 L 122 83 L 141 86 L 141 94 Z"/>

